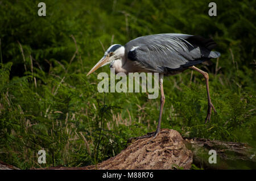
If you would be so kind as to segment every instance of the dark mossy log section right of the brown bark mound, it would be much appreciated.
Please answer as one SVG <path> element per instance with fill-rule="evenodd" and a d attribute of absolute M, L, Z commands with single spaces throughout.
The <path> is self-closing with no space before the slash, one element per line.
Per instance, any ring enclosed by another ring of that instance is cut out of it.
<path fill-rule="evenodd" d="M 203 169 L 256 169 L 256 150 L 240 142 L 184 138 L 193 152 L 193 164 Z M 216 151 L 216 163 L 209 163 L 210 150 Z"/>

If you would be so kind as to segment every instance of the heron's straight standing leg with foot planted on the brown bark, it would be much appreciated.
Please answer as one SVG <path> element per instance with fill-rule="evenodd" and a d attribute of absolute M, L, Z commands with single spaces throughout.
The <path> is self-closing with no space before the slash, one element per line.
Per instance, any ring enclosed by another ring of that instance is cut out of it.
<path fill-rule="evenodd" d="M 151 132 L 151 133 L 147 133 L 144 136 L 140 136 L 138 137 L 138 139 L 140 138 L 148 138 L 148 137 L 152 137 L 152 140 L 158 135 L 158 133 L 160 132 L 160 128 L 161 128 L 161 120 L 162 120 L 162 114 L 163 114 L 163 106 L 164 106 L 164 91 L 163 91 L 163 74 L 159 74 L 159 86 L 160 86 L 160 91 L 161 91 L 161 98 L 160 98 L 160 112 L 159 112 L 159 118 L 158 118 L 158 127 L 156 128 L 155 132 Z M 150 140 L 150 141 L 152 141 Z"/>

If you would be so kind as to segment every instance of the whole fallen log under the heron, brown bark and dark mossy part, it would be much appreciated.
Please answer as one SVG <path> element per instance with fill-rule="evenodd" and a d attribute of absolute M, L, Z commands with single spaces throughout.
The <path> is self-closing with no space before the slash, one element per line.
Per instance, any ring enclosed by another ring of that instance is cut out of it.
<path fill-rule="evenodd" d="M 204 169 L 256 169 L 255 150 L 247 144 L 181 137 L 173 129 L 161 129 L 158 136 L 149 142 L 151 139 L 130 139 L 125 150 L 97 166 L 46 169 L 191 169 L 192 163 Z M 208 162 L 208 153 L 212 149 L 217 153 L 216 164 Z M 1 169 L 18 168 L 0 162 Z"/>

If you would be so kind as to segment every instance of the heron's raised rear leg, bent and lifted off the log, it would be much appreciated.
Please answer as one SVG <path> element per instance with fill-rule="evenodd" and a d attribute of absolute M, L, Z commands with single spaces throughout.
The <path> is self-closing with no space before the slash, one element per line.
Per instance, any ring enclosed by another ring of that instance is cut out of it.
<path fill-rule="evenodd" d="M 207 111 L 207 117 L 205 118 L 205 123 L 207 123 L 207 121 L 210 121 L 210 114 L 212 113 L 212 108 L 213 108 L 214 112 L 216 112 L 212 102 L 210 101 L 209 75 L 207 72 L 200 70 L 200 69 L 196 68 L 195 66 L 191 66 L 189 68 L 196 70 L 199 73 L 203 74 L 204 78 L 205 78 L 205 83 L 206 83 L 206 87 L 207 87 L 207 98 L 208 98 L 208 111 Z"/>

